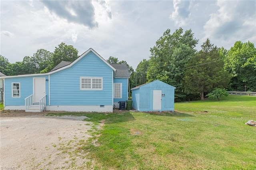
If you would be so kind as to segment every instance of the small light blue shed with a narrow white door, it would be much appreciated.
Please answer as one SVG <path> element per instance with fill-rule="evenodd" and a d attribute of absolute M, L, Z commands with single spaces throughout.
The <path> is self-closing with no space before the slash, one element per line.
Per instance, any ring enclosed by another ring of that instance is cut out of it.
<path fill-rule="evenodd" d="M 174 111 L 174 89 L 155 80 L 132 88 L 132 108 L 138 111 Z"/>

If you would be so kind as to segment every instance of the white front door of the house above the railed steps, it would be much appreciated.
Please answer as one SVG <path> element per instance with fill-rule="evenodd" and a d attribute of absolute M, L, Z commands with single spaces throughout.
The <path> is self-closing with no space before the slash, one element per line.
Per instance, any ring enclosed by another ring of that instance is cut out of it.
<path fill-rule="evenodd" d="M 45 95 L 45 78 L 34 78 L 34 103 Z"/>

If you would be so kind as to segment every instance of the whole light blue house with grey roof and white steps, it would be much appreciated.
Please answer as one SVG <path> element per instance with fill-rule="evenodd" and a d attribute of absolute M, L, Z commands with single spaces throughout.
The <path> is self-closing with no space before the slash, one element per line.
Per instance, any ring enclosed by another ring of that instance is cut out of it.
<path fill-rule="evenodd" d="M 126 64 L 109 64 L 92 48 L 49 73 L 4 77 L 4 109 L 112 112 L 128 99 Z"/>

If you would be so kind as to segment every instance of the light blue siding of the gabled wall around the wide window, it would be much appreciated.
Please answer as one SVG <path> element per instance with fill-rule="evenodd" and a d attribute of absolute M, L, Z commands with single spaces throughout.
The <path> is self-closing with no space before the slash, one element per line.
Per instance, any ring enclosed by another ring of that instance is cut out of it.
<path fill-rule="evenodd" d="M 102 77 L 103 90 L 80 90 L 80 77 Z M 113 70 L 93 52 L 50 75 L 50 105 L 112 105 Z"/>

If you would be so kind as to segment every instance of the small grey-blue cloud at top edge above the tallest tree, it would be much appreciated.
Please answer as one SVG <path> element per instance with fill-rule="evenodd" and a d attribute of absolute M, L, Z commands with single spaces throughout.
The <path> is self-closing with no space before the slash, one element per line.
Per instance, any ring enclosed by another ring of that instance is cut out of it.
<path fill-rule="evenodd" d="M 190 1 L 188 0 L 174 0 L 173 1 L 174 12 L 170 15 L 170 18 L 174 20 L 176 26 L 184 26 L 190 16 Z"/>

